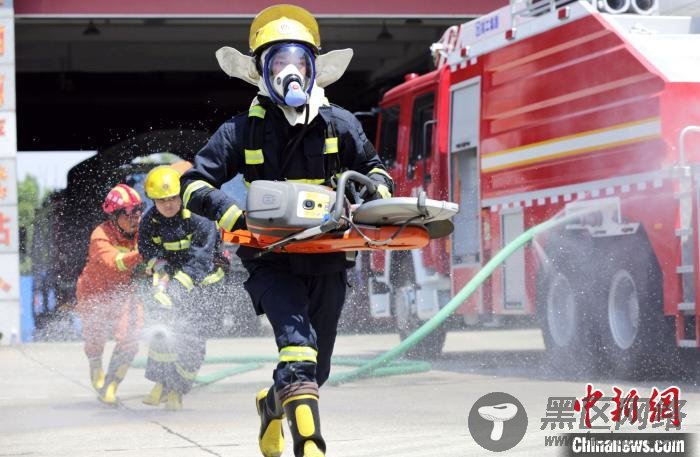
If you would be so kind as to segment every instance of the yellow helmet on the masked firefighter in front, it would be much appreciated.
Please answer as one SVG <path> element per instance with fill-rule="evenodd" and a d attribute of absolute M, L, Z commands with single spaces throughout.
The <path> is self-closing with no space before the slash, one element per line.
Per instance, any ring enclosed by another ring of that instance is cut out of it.
<path fill-rule="evenodd" d="M 280 41 L 307 44 L 318 54 L 321 36 L 316 19 L 296 5 L 280 4 L 265 8 L 250 25 L 250 51 L 257 54 L 268 45 Z"/>

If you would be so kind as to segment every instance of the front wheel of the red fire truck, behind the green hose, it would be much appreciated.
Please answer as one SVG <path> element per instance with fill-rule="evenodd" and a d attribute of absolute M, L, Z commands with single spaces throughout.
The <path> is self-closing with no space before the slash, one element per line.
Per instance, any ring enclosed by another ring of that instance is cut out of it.
<path fill-rule="evenodd" d="M 415 315 L 413 302 L 415 301 L 415 292 L 413 285 L 403 285 L 394 290 L 394 315 L 396 317 L 396 327 L 399 331 L 401 341 L 416 331 L 422 325 L 422 322 Z M 411 348 L 406 355 L 415 358 L 434 358 L 442 353 L 442 347 L 445 345 L 446 330 L 443 327 L 438 327 L 429 334 L 425 339 Z"/>

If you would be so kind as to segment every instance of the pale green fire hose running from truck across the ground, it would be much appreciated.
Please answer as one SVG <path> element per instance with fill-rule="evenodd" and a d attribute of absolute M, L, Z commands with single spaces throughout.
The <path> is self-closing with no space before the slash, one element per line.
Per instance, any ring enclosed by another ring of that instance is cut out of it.
<path fill-rule="evenodd" d="M 362 377 L 379 377 L 379 376 L 394 376 L 401 374 L 417 373 L 430 370 L 430 364 L 427 362 L 417 361 L 397 361 L 398 357 L 406 353 L 430 333 L 435 331 L 448 317 L 450 317 L 459 306 L 469 298 L 481 284 L 493 274 L 503 262 L 506 261 L 515 251 L 520 249 L 526 243 L 542 232 L 545 232 L 557 225 L 572 222 L 580 218 L 584 213 L 590 212 L 590 209 L 576 211 L 564 217 L 553 217 L 539 225 L 535 225 L 523 232 L 513 241 L 508 243 L 496 253 L 494 257 L 484 265 L 481 270 L 460 290 L 452 299 L 431 319 L 426 321 L 415 332 L 410 334 L 399 345 L 389 351 L 370 360 L 366 359 L 351 359 L 343 357 L 334 357 L 333 364 L 347 365 L 356 367 L 353 370 L 337 373 L 328 380 L 329 385 L 339 385 Z M 197 376 L 195 382 L 197 384 L 210 384 L 221 379 L 233 376 L 246 371 L 254 370 L 262 366 L 263 363 L 276 363 L 276 356 L 211 356 L 204 360 L 206 364 L 242 364 L 234 367 L 228 367 L 221 371 L 211 373 L 209 375 Z M 134 367 L 145 367 L 146 360 L 138 359 L 132 363 Z"/>

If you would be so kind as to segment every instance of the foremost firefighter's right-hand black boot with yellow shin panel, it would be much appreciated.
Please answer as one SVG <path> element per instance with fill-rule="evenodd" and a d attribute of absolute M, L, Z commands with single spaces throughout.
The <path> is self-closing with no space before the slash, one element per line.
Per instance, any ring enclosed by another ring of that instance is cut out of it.
<path fill-rule="evenodd" d="M 324 457 L 326 442 L 321 436 L 318 397 L 304 394 L 284 401 L 284 413 L 294 439 L 295 457 Z"/>

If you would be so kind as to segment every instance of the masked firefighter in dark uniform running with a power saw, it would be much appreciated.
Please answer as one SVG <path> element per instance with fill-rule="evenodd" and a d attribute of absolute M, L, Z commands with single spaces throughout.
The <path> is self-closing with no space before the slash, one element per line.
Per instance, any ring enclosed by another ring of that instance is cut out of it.
<path fill-rule="evenodd" d="M 244 229 L 245 213 L 220 190 L 239 173 L 247 183 L 332 186 L 338 173 L 350 169 L 376 182 L 369 199 L 390 196 L 391 177 L 359 121 L 324 96 L 323 87 L 340 78 L 352 50 L 320 55 L 316 20 L 294 5 L 260 12 L 249 44 L 252 56 L 229 47 L 217 51 L 222 69 L 256 85 L 258 94 L 247 113 L 219 127 L 183 175 L 185 207 L 224 230 Z M 330 373 L 346 269 L 353 259 L 344 253 L 257 253 L 249 247 L 237 251 L 249 273 L 245 288 L 257 314 L 266 314 L 272 324 L 279 350 L 274 383 L 256 396 L 260 450 L 264 456 L 282 454 L 286 415 L 295 456 L 323 456 L 319 387 Z"/>

